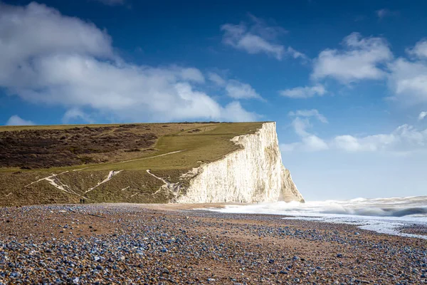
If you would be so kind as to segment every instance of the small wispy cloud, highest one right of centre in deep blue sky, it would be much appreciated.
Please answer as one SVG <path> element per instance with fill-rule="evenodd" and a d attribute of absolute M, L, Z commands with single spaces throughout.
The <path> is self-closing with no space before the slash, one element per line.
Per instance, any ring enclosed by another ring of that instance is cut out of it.
<path fill-rule="evenodd" d="M 283 28 L 267 26 L 255 16 L 251 16 L 251 20 L 252 25 L 250 26 L 244 23 L 221 26 L 221 31 L 224 32 L 223 43 L 250 54 L 265 53 L 279 61 L 285 55 L 290 55 L 293 58 L 306 58 L 303 53 L 295 51 L 291 47 L 285 48 L 285 46 L 275 42 L 278 35 L 285 33 Z"/>

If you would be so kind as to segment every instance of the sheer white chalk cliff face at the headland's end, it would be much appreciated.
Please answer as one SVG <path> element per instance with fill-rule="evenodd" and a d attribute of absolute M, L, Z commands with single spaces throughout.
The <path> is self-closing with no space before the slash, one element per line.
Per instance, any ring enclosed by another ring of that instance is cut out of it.
<path fill-rule="evenodd" d="M 256 133 L 232 141 L 241 150 L 192 170 L 195 176 L 176 202 L 304 201 L 282 164 L 274 122 L 263 123 Z"/>

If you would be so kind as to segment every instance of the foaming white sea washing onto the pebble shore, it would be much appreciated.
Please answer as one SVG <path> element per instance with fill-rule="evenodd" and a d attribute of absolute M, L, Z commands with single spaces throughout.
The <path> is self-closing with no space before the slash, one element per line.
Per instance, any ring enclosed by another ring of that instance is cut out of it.
<path fill-rule="evenodd" d="M 427 239 L 427 196 L 258 204 L 229 204 L 215 212 L 280 214 L 283 219 L 353 224 L 382 234 Z M 417 229 L 408 233 L 402 229 Z"/>

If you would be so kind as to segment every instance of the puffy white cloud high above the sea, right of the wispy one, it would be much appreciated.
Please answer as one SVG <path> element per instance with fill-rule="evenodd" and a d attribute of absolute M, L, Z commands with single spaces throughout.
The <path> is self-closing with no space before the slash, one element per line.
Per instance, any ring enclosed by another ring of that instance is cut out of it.
<path fill-rule="evenodd" d="M 381 65 L 393 55 L 384 38 L 362 38 L 351 33 L 344 38 L 342 50 L 326 49 L 315 59 L 312 78 L 334 78 L 342 83 L 386 76 Z"/>

